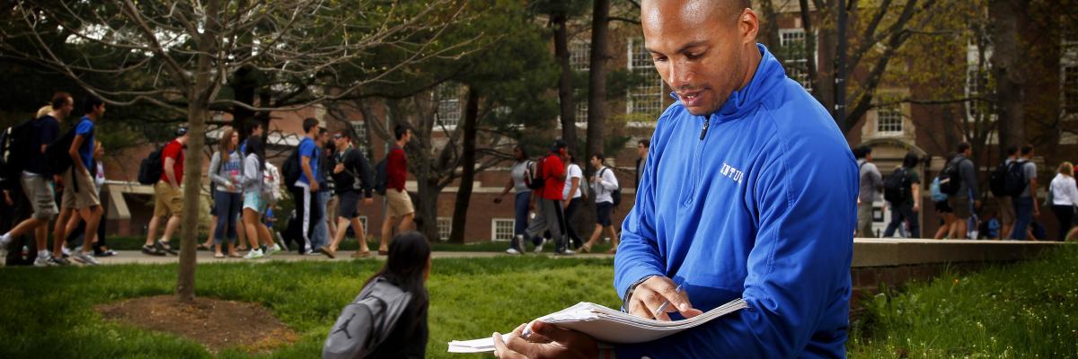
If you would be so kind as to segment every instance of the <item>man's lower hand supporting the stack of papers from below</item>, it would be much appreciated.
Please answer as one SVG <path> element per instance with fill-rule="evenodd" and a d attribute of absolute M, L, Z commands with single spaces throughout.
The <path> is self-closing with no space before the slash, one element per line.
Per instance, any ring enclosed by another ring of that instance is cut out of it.
<path fill-rule="evenodd" d="M 527 339 L 521 337 L 527 323 L 516 327 L 509 341 L 503 342 L 501 334 L 494 333 L 494 356 L 507 358 L 597 358 L 598 344 L 588 334 L 558 328 L 542 321 L 531 323 L 533 333 Z"/>

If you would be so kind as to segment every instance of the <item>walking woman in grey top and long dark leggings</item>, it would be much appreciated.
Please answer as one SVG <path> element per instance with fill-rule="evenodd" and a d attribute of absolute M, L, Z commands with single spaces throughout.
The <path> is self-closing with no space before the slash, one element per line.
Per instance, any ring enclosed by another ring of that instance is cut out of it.
<path fill-rule="evenodd" d="M 236 223 L 244 206 L 243 184 L 244 156 L 239 153 L 239 133 L 227 128 L 218 143 L 218 151 L 209 161 L 209 178 L 217 184 L 213 207 L 217 209 L 217 226 L 213 230 L 213 257 L 224 258 L 221 243 L 229 240 L 229 257 L 238 258 L 236 252 Z"/>

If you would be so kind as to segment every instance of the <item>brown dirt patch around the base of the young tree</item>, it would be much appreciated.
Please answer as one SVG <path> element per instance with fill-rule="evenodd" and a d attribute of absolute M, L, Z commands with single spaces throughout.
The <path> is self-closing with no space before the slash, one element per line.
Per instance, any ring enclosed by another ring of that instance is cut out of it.
<path fill-rule="evenodd" d="M 300 337 L 255 303 L 197 298 L 194 304 L 184 304 L 175 295 L 158 295 L 102 304 L 96 309 L 106 319 L 180 335 L 212 353 L 229 347 L 265 353 Z"/>

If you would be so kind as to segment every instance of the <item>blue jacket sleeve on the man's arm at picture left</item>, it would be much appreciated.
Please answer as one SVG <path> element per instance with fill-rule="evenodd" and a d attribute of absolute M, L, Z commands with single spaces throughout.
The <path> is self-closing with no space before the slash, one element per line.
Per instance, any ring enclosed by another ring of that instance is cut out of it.
<path fill-rule="evenodd" d="M 623 302 L 630 286 L 645 277 L 664 275 L 666 268 L 655 232 L 655 177 L 651 166 L 655 162 L 651 157 L 657 152 L 648 153 L 636 189 L 636 203 L 621 224 L 621 244 L 613 259 L 613 286 Z"/>

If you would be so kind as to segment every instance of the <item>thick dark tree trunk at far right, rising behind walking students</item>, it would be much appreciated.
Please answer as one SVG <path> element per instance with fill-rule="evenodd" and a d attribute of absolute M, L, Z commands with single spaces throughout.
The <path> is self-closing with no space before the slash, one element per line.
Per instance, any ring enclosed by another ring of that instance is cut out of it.
<path fill-rule="evenodd" d="M 1022 112 L 1023 93 L 1020 67 L 1018 19 L 1026 6 L 1015 0 L 992 0 L 989 2 L 989 18 L 992 43 L 992 74 L 996 80 L 996 114 L 999 121 L 999 151 L 1006 153 L 1008 146 L 1025 142 Z"/>

